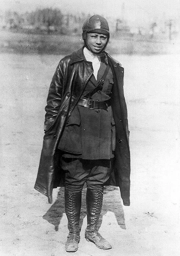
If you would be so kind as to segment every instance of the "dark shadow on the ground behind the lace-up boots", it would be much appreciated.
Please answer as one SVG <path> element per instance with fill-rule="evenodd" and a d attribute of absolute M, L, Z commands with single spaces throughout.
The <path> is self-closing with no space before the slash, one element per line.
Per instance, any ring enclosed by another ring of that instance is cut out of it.
<path fill-rule="evenodd" d="M 123 207 L 120 200 L 120 191 L 117 187 L 106 186 L 104 187 L 104 198 L 101 215 L 99 217 L 98 228 L 102 223 L 103 215 L 108 211 L 113 212 L 118 225 L 122 229 L 126 229 Z M 58 191 L 57 199 L 54 204 L 49 208 L 46 214 L 43 216 L 44 220 L 53 224 L 55 231 L 58 231 L 60 221 L 62 219 L 64 210 L 64 188 L 61 187 Z M 81 215 L 80 215 L 80 229 L 82 227 L 83 219 L 86 216 L 86 187 L 82 191 L 82 204 L 81 204 Z"/>

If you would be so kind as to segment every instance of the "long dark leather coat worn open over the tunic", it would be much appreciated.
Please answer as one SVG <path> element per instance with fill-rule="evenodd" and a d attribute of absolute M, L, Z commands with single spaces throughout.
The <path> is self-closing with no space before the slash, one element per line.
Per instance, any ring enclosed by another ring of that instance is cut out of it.
<path fill-rule="evenodd" d="M 107 54 L 107 53 L 106 53 Z M 116 149 L 111 177 L 105 185 L 120 187 L 123 204 L 130 205 L 130 151 L 127 108 L 123 92 L 124 69 L 107 54 L 113 72 L 112 110 L 116 127 Z M 80 99 L 93 71 L 83 58 L 83 48 L 64 57 L 53 76 L 45 108 L 45 135 L 35 189 L 52 203 L 52 190 L 64 186 L 57 149 L 68 117 Z"/>

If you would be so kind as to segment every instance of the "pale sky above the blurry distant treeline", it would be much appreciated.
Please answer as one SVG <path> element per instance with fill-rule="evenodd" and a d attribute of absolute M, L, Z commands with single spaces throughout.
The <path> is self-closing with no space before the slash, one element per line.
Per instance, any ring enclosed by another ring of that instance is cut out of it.
<path fill-rule="evenodd" d="M 64 12 L 121 18 L 123 2 L 124 17 L 130 25 L 143 26 L 160 19 L 180 18 L 180 0 L 0 0 L 0 10 L 24 12 L 49 6 Z"/>

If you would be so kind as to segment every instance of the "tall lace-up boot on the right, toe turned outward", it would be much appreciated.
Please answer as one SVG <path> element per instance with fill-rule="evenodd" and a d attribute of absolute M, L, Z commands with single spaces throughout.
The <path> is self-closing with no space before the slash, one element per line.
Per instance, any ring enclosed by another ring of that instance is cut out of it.
<path fill-rule="evenodd" d="M 101 190 L 90 190 L 86 192 L 87 228 L 85 238 L 93 242 L 100 249 L 111 249 L 110 243 L 98 232 L 97 224 L 102 209 L 103 188 Z"/>

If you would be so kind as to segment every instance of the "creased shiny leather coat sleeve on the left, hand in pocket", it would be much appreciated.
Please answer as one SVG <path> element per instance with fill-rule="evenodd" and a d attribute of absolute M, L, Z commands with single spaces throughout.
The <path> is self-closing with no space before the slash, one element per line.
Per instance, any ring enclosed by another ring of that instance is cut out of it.
<path fill-rule="evenodd" d="M 64 65 L 63 61 L 59 62 L 56 68 L 55 74 L 50 84 L 49 93 L 47 97 L 47 105 L 45 107 L 45 133 L 50 129 L 56 120 L 59 108 L 61 106 L 61 100 L 63 95 L 63 80 L 64 80 Z"/>

